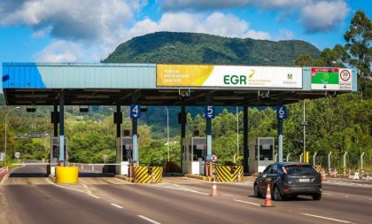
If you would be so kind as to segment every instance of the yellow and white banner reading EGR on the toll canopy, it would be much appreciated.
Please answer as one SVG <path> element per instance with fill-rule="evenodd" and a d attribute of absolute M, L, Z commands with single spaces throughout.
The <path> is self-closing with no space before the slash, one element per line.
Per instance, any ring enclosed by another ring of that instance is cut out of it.
<path fill-rule="evenodd" d="M 302 68 L 157 65 L 157 87 L 302 89 Z"/>

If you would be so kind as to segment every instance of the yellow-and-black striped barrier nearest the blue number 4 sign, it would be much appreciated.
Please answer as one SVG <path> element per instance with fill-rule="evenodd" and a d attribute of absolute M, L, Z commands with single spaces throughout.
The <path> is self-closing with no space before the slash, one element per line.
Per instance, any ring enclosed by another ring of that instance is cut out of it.
<path fill-rule="evenodd" d="M 163 177 L 163 167 L 161 166 L 136 166 L 135 167 L 135 182 L 136 183 L 151 183 L 152 174 L 155 176 L 155 182 L 161 182 Z"/>

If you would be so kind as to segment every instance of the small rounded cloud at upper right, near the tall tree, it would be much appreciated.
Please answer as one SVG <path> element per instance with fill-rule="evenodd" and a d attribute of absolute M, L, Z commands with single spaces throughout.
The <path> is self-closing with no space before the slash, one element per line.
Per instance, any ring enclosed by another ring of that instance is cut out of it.
<path fill-rule="evenodd" d="M 339 26 L 348 12 L 347 4 L 342 0 L 319 1 L 302 9 L 300 23 L 306 27 L 308 33 L 327 32 Z"/>

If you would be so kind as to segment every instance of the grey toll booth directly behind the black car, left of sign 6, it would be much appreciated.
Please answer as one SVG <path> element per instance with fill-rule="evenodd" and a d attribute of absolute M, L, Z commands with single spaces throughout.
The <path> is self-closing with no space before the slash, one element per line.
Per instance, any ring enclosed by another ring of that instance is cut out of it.
<path fill-rule="evenodd" d="M 250 173 L 262 172 L 268 165 L 274 163 L 274 137 L 258 137 L 250 142 L 249 149 L 250 155 L 248 161 Z"/>

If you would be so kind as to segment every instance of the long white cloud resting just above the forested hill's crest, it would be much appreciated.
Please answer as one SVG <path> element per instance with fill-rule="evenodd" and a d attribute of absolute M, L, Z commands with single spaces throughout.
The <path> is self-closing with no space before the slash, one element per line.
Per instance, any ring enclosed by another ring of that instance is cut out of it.
<path fill-rule="evenodd" d="M 227 37 L 251 37 L 270 39 L 267 32 L 249 29 L 249 23 L 233 14 L 213 12 L 209 16 L 186 12 L 164 13 L 158 22 L 143 19 L 128 31 L 128 37 L 145 35 L 156 31 L 194 32 Z"/>

